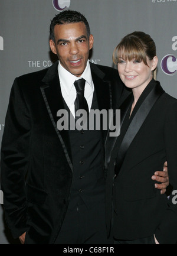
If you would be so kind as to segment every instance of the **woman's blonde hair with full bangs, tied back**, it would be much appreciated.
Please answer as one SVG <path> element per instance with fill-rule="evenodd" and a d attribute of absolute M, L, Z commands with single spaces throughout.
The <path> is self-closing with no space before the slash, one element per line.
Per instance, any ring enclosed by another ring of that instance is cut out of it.
<path fill-rule="evenodd" d="M 149 60 L 153 60 L 156 56 L 156 45 L 150 35 L 141 31 L 135 31 L 126 35 L 122 41 L 116 46 L 113 52 L 114 64 L 119 63 L 120 58 L 124 60 L 136 59 L 143 61 L 146 66 L 147 57 Z M 153 77 L 156 78 L 156 69 L 153 70 Z"/>

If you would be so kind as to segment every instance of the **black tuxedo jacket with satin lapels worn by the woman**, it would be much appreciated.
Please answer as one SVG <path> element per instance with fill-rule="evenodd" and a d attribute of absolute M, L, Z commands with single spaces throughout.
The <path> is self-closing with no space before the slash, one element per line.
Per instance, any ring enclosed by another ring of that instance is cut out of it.
<path fill-rule="evenodd" d="M 153 90 L 159 91 L 158 98 L 154 102 L 152 102 L 154 96 L 148 98 Z M 177 242 L 177 199 L 175 199 L 177 101 L 163 92 L 158 82 L 152 80 L 130 116 L 131 105 L 130 99 L 120 136 L 112 151 L 107 174 L 107 229 L 109 232 L 113 195 L 114 238 L 133 240 L 155 234 L 160 244 L 175 244 Z M 148 108 L 147 116 L 140 124 Z M 122 113 L 124 109 L 121 107 L 120 109 Z M 132 137 L 133 133 L 134 137 Z M 175 190 L 174 195 L 171 194 L 169 199 L 166 195 L 160 195 L 160 191 L 155 189 L 155 181 L 151 179 L 155 171 L 163 170 L 165 161 L 168 161 L 169 182 Z M 114 170 L 116 170 L 115 179 Z"/>

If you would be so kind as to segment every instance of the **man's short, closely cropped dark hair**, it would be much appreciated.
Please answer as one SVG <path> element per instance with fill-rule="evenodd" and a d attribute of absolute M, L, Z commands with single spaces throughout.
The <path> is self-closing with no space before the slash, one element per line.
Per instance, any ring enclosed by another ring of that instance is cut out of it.
<path fill-rule="evenodd" d="M 83 22 L 86 25 L 87 37 L 89 38 L 90 27 L 86 17 L 84 17 L 84 15 L 78 11 L 65 10 L 60 12 L 60 14 L 55 15 L 55 17 L 51 21 L 50 39 L 55 42 L 55 35 L 54 35 L 55 25 L 63 25 L 63 24 L 78 23 L 78 22 Z"/>

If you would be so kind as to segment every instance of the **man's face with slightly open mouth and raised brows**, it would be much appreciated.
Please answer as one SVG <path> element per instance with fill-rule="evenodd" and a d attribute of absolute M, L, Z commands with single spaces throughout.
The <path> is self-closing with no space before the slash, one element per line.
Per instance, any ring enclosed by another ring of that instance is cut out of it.
<path fill-rule="evenodd" d="M 51 51 L 57 54 L 64 69 L 74 76 L 81 76 L 93 47 L 93 35 L 87 37 L 83 22 L 55 25 L 54 35 L 55 42 L 50 40 Z"/>

